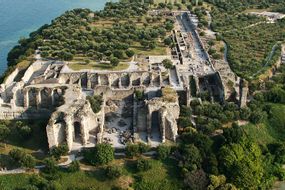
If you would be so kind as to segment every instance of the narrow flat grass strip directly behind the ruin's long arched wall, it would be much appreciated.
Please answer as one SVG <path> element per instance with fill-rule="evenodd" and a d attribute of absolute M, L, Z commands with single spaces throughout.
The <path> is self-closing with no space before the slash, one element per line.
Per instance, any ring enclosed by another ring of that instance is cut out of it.
<path fill-rule="evenodd" d="M 108 63 L 89 63 L 89 64 L 71 63 L 68 65 L 68 67 L 75 71 L 83 69 L 120 71 L 127 69 L 129 67 L 129 64 L 121 62 L 118 66 L 114 67 Z"/>

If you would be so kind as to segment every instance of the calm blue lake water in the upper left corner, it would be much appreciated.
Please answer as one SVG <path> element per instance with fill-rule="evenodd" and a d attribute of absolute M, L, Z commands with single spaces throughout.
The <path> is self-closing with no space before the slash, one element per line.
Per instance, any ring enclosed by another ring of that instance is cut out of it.
<path fill-rule="evenodd" d="M 0 0 L 0 74 L 7 54 L 21 37 L 73 8 L 103 9 L 110 0 Z M 116 0 L 113 0 L 115 2 Z"/>

